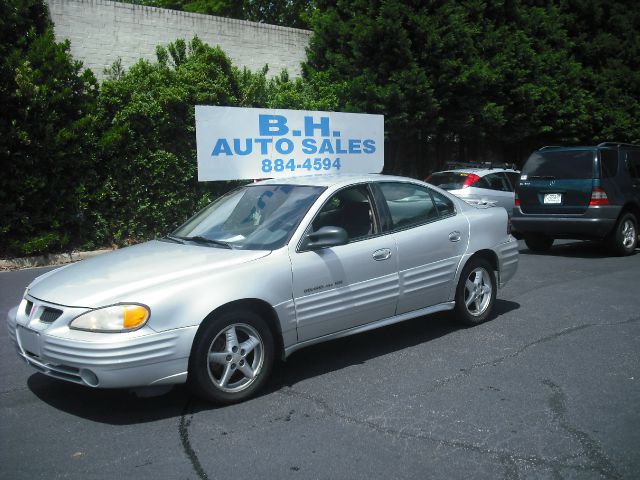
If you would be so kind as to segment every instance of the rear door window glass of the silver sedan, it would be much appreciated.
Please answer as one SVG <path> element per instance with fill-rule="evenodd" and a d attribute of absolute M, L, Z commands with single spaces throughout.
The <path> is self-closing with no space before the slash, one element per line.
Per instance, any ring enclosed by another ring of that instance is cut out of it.
<path fill-rule="evenodd" d="M 413 227 L 438 218 L 438 207 L 428 188 L 399 182 L 383 182 L 379 185 L 394 230 Z"/>

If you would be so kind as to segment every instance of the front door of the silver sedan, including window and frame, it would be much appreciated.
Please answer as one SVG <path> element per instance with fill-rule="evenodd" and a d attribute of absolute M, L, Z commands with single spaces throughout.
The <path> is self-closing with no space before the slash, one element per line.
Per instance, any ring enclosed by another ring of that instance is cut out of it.
<path fill-rule="evenodd" d="M 320 250 L 290 250 L 298 341 L 375 322 L 395 314 L 397 247 L 384 234 L 366 184 L 332 195 L 307 231 L 342 227 L 349 243 Z"/>

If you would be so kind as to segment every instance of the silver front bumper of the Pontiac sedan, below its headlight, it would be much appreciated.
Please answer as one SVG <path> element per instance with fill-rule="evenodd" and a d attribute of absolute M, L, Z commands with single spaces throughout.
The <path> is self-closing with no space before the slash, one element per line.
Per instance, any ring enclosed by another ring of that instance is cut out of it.
<path fill-rule="evenodd" d="M 30 319 L 21 304 L 7 315 L 18 355 L 50 377 L 100 388 L 184 383 L 197 327 L 156 332 L 93 333 L 68 328 L 77 309 L 51 324 Z M 56 306 L 58 309 L 59 306 Z M 86 310 L 86 309 L 84 309 Z"/>

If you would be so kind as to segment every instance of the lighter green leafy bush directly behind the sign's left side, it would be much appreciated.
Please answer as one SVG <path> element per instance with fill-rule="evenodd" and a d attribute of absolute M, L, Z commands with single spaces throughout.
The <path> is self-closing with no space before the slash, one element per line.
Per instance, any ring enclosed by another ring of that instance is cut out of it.
<path fill-rule="evenodd" d="M 197 180 L 194 105 L 265 106 L 266 69 L 239 71 L 197 37 L 158 47 L 105 80 L 98 98 L 97 155 L 104 185 L 93 210 L 98 241 L 164 235 L 232 185 Z"/>

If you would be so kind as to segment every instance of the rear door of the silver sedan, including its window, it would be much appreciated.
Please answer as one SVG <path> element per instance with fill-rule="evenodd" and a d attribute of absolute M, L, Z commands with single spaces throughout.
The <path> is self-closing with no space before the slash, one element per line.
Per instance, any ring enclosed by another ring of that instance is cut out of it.
<path fill-rule="evenodd" d="M 469 224 L 454 202 L 423 185 L 380 182 L 398 248 L 396 314 L 452 300 Z"/>

